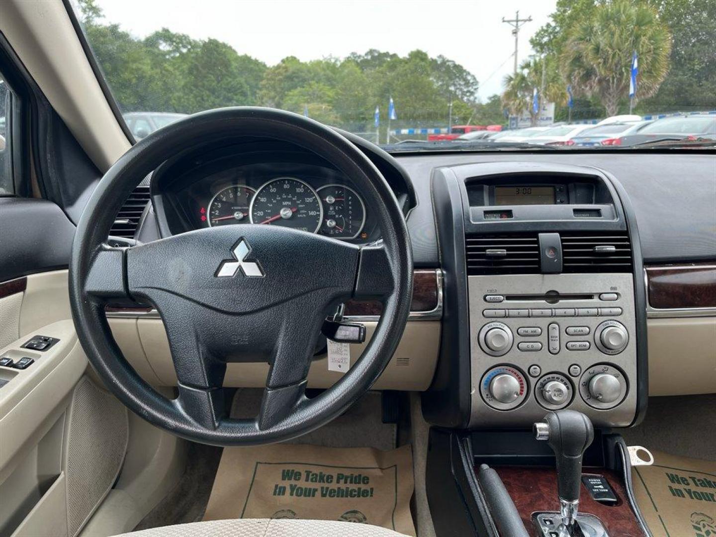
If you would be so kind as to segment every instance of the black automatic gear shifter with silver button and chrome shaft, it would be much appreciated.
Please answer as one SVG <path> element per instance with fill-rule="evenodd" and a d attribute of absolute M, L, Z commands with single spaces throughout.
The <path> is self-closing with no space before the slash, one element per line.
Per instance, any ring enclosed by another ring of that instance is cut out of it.
<path fill-rule="evenodd" d="M 557 459 L 557 484 L 562 523 L 569 535 L 579 535 L 576 515 L 579 510 L 581 463 L 584 450 L 594 440 L 591 420 L 576 410 L 548 412 L 543 422 L 534 424 L 537 440 L 547 440 Z"/>

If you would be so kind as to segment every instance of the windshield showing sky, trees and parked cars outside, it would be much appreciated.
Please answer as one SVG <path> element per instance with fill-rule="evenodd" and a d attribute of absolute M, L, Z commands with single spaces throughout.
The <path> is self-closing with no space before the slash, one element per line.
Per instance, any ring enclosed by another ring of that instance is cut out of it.
<path fill-rule="evenodd" d="M 642 132 L 687 143 L 711 131 L 683 117 L 716 110 L 714 1 L 71 3 L 137 139 L 184 115 L 251 105 L 395 151 L 529 149 L 619 134 L 630 125 L 581 129 L 627 114 L 653 120 Z M 460 138 L 486 129 L 501 132 Z"/>

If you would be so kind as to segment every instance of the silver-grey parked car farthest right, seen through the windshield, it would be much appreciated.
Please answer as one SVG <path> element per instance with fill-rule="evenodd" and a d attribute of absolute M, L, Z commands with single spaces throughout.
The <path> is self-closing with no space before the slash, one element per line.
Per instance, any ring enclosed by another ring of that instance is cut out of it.
<path fill-rule="evenodd" d="M 612 145 L 634 145 L 659 140 L 716 140 L 716 116 L 707 114 L 664 117 L 646 125 L 638 132 L 625 133 Z"/>

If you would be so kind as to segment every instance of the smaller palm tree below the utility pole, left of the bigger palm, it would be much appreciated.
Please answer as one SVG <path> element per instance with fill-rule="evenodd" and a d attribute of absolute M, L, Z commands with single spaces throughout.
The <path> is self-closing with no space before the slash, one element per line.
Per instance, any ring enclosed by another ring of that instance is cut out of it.
<path fill-rule="evenodd" d="M 544 77 L 543 75 L 544 69 Z M 544 88 L 542 89 L 542 83 Z M 525 110 L 530 112 L 532 125 L 536 125 L 538 113 L 533 112 L 532 95 L 535 88 L 540 93 L 541 102 L 554 102 L 561 105 L 566 99 L 566 90 L 557 69 L 555 57 L 531 57 L 520 65 L 515 74 L 508 74 L 504 79 L 505 91 L 502 103 L 511 115 L 521 115 Z"/>

